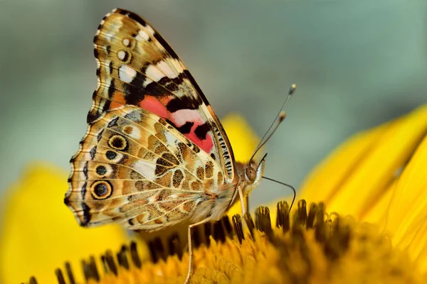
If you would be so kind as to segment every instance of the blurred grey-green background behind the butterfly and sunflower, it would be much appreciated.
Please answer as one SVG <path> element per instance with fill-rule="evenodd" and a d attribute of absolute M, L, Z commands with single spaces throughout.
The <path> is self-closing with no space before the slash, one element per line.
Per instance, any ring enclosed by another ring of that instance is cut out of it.
<path fill-rule="evenodd" d="M 93 36 L 116 6 L 162 33 L 220 118 L 238 112 L 260 136 L 297 84 L 265 168 L 296 187 L 344 138 L 427 102 L 426 1 L 0 0 L 0 195 L 30 161 L 68 169 L 96 84 Z M 289 194 L 264 181 L 251 200 Z"/>

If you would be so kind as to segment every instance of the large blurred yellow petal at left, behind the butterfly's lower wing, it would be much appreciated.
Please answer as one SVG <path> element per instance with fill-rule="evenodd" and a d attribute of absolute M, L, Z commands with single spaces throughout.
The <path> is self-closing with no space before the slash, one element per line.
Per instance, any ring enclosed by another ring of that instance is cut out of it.
<path fill-rule="evenodd" d="M 21 283 L 31 275 L 37 275 L 38 283 L 57 283 L 55 268 L 65 261 L 80 271 L 82 258 L 130 241 L 119 225 L 80 227 L 63 203 L 67 178 L 65 171 L 38 163 L 7 190 L 0 222 L 0 283 Z"/>

